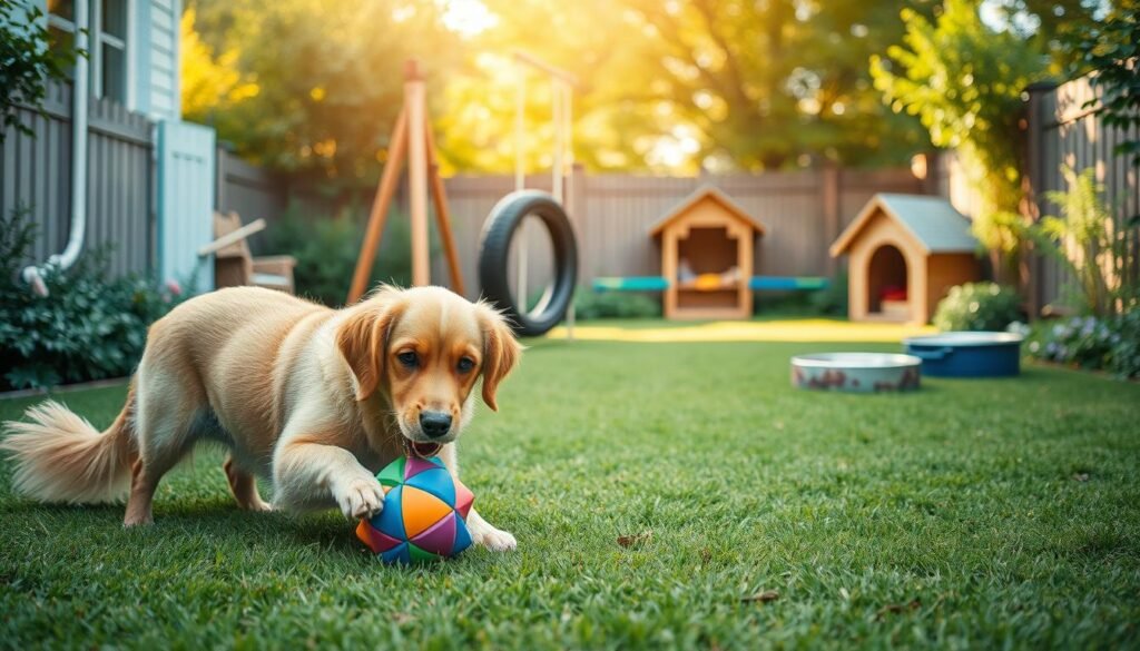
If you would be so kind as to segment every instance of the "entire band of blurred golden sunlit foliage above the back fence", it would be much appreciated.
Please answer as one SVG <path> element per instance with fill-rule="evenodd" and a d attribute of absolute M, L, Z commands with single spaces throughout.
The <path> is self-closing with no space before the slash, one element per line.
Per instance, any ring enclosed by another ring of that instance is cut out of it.
<path fill-rule="evenodd" d="M 935 3 L 905 2 L 923 14 Z M 210 71 L 197 78 L 213 100 L 187 114 L 277 169 L 367 177 L 399 106 L 399 65 L 417 56 L 435 73 L 429 95 L 448 170 L 506 171 L 511 55 L 521 49 L 581 80 L 575 152 L 592 169 L 896 164 L 928 146 L 917 120 L 882 106 L 866 70 L 879 43 L 903 33 L 895 1 L 483 0 L 494 21 L 482 31 L 448 24 L 451 5 L 463 3 L 193 0 L 207 56 L 188 65 Z M 258 93 L 230 101 L 225 79 Z M 554 135 L 539 74 L 528 78 L 526 111 L 528 168 L 547 168 Z"/>

